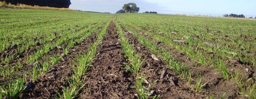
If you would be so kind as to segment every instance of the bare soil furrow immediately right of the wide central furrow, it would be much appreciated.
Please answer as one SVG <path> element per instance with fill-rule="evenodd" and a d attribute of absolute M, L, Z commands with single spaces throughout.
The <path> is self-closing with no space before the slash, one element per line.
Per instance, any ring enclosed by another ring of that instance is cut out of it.
<path fill-rule="evenodd" d="M 151 84 L 151 90 L 154 91 L 153 95 L 160 95 L 160 99 L 197 99 L 195 92 L 190 90 L 190 88 L 183 82 L 184 79 L 176 77 L 176 72 L 168 69 L 166 61 L 163 61 L 161 56 L 158 56 L 159 61 L 154 60 L 151 55 L 152 52 L 145 46 L 139 44 L 139 41 L 129 33 L 122 25 L 123 31 L 127 34 L 126 37 L 132 42 L 136 52 L 140 52 L 142 58 L 145 59 L 141 73 L 147 75 L 147 81 Z M 166 70 L 166 76 L 160 78 L 162 71 Z M 172 85 L 170 78 L 174 79 L 175 85 Z M 156 82 L 155 82 L 156 81 Z M 155 83 L 154 83 L 155 82 Z M 144 83 L 145 87 L 149 86 Z"/>

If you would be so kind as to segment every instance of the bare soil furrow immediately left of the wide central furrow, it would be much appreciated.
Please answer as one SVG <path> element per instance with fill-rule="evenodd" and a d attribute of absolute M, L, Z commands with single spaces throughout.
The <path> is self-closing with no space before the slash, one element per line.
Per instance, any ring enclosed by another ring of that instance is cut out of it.
<path fill-rule="evenodd" d="M 73 49 L 67 54 L 64 55 L 63 59 L 65 61 L 61 61 L 54 66 L 51 66 L 51 71 L 49 73 L 45 73 L 42 75 L 39 80 L 34 82 L 28 82 L 29 86 L 27 90 L 21 95 L 22 99 L 53 99 L 56 97 L 57 93 L 63 93 L 63 80 L 71 76 L 71 71 L 73 71 L 73 64 L 77 56 L 79 54 L 85 53 L 91 43 L 94 42 L 97 38 L 97 34 L 101 29 L 98 29 L 88 38 L 80 42 L 73 47 Z M 55 50 L 56 54 L 61 52 L 59 50 Z M 62 53 L 62 52 L 61 52 Z"/>

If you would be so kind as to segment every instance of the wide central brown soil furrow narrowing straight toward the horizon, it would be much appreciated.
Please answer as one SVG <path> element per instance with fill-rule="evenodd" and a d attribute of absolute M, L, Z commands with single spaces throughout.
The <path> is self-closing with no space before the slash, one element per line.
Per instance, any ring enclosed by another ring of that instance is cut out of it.
<path fill-rule="evenodd" d="M 123 64 L 127 62 L 115 23 L 111 22 L 102 44 L 98 46 L 93 67 L 85 75 L 85 81 L 88 82 L 80 99 L 135 98 L 135 90 L 131 88 L 134 86 L 134 77 L 127 72 Z"/>

